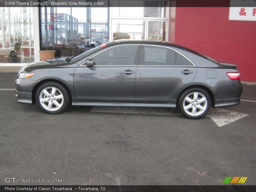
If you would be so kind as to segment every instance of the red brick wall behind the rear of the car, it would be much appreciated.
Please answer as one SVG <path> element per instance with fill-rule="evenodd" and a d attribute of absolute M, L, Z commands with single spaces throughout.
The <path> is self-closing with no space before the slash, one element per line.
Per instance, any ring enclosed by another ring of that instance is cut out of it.
<path fill-rule="evenodd" d="M 235 63 L 242 81 L 256 82 L 256 21 L 228 20 L 228 15 L 229 7 L 171 8 L 169 41 Z"/>

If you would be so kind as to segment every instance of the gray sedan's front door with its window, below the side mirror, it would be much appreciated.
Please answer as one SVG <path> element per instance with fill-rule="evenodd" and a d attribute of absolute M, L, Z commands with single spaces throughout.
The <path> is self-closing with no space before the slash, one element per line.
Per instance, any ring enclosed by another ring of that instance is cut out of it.
<path fill-rule="evenodd" d="M 135 103 L 140 45 L 117 45 L 92 57 L 95 65 L 78 66 L 74 88 L 78 102 Z"/>

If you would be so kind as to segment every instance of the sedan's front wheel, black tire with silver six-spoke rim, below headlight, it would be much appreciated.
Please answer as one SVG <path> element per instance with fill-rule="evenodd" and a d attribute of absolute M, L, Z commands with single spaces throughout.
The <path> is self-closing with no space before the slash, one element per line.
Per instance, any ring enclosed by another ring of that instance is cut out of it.
<path fill-rule="evenodd" d="M 57 82 L 46 82 L 36 91 L 36 103 L 46 113 L 59 114 L 70 102 L 68 90 Z"/>

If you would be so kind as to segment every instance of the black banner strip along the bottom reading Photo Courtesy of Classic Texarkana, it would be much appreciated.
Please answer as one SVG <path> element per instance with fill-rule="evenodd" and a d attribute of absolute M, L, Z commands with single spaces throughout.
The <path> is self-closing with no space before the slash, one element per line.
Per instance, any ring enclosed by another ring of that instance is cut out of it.
<path fill-rule="evenodd" d="M 83 185 L 71 185 L 71 186 L 36 186 L 36 185 L 8 185 L 1 186 L 1 192 L 17 191 L 17 192 L 56 192 L 56 191 L 90 191 L 90 192 L 254 192 L 256 191 L 255 185 L 204 185 L 204 186 L 155 186 L 155 185 L 105 185 L 105 186 L 83 186 Z"/>

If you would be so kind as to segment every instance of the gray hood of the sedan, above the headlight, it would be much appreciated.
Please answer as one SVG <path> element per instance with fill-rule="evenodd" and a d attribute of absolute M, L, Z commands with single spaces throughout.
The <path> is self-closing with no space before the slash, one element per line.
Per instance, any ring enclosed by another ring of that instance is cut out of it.
<path fill-rule="evenodd" d="M 34 63 L 28 63 L 20 69 L 20 72 L 32 71 L 32 70 L 36 70 L 36 69 L 60 68 L 60 67 L 63 67 L 67 63 L 68 62 L 66 61 L 66 58 L 51 59 L 51 60 L 34 62 Z"/>

